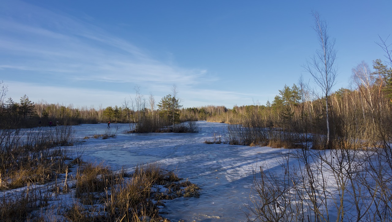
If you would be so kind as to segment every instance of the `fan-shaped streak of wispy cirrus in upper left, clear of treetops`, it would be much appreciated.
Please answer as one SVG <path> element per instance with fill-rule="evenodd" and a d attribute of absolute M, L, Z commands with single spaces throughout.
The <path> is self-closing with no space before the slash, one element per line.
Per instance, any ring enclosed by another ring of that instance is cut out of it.
<path fill-rule="evenodd" d="M 15 2 L 8 5 L 13 13 L 0 16 L 0 55 L 8 56 L 0 67 L 10 72 L 64 73 L 62 78 L 78 81 L 181 85 L 198 84 L 206 73 L 154 60 L 129 41 L 89 22 Z"/>

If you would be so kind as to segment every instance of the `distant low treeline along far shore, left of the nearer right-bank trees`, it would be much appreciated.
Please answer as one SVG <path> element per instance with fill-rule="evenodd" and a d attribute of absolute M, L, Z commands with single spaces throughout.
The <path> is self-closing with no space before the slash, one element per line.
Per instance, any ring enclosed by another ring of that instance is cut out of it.
<path fill-rule="evenodd" d="M 136 123 L 139 118 L 151 118 L 158 121 L 159 118 L 167 117 L 172 125 L 172 113 L 167 104 L 162 107 L 163 110 L 149 109 L 144 107 L 142 110 L 134 110 L 131 107 L 108 106 L 105 108 L 95 107 L 74 107 L 72 104 L 64 106 L 62 104 L 49 104 L 47 102 L 32 102 L 27 95 L 20 98 L 20 102 L 14 102 L 12 98 L 8 98 L 0 107 L 0 116 L 2 128 L 8 126 L 9 123 L 17 123 L 20 127 L 36 127 L 39 121 L 41 125 L 49 125 L 49 122 L 59 122 L 62 125 L 76 124 L 96 124 L 99 122 L 115 122 L 115 123 Z M 169 111 L 168 111 L 169 110 Z M 189 120 L 207 120 L 211 116 L 221 115 L 227 112 L 224 106 L 205 106 L 193 108 L 181 108 L 175 112 L 175 123 L 185 122 Z M 161 111 L 161 112 L 160 112 Z"/>

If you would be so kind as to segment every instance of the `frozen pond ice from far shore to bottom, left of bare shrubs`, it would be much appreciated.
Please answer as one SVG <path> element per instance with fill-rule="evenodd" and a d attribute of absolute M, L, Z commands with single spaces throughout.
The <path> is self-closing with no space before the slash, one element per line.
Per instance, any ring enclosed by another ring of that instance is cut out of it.
<path fill-rule="evenodd" d="M 162 216 L 176 222 L 246 221 L 245 205 L 249 199 L 256 163 L 277 167 L 281 149 L 269 147 L 205 144 L 215 134 L 225 135 L 227 124 L 197 122 L 199 133 L 124 134 L 128 124 L 118 124 L 118 136 L 85 139 L 83 159 L 102 162 L 113 169 L 132 168 L 138 163 L 157 162 L 177 171 L 201 187 L 200 198 L 177 198 L 165 201 Z M 116 124 L 111 124 L 114 132 Z M 102 134 L 107 124 L 74 126 L 76 136 Z M 79 151 L 81 147 L 78 148 Z"/>

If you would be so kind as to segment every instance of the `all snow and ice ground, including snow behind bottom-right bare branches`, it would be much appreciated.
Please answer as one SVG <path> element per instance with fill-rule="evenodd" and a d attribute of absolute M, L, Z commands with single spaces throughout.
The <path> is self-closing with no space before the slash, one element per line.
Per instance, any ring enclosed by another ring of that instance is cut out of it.
<path fill-rule="evenodd" d="M 128 124 L 111 124 L 111 129 L 107 128 L 107 124 L 84 124 L 73 126 L 76 140 L 83 142 L 75 142 L 75 146 L 68 149 L 71 149 L 74 154 L 82 155 L 83 160 L 104 162 L 113 170 L 125 167 L 131 171 L 137 164 L 158 163 L 167 170 L 176 171 L 184 180 L 188 179 L 196 183 L 202 189 L 200 198 L 181 197 L 165 200 L 166 207 L 161 209 L 162 216 L 173 222 L 180 219 L 186 222 L 247 221 L 246 215 L 250 213 L 247 206 L 248 204 L 253 206 L 250 198 L 256 197 L 256 202 L 259 201 L 257 196 L 253 196 L 251 189 L 253 172 L 259 170 L 259 166 L 263 167 L 267 175 L 277 178 L 275 182 L 279 186 L 286 187 L 291 184 L 289 186 L 291 188 L 283 191 L 280 197 L 284 200 L 292 200 L 289 205 L 294 208 L 291 210 L 300 209 L 303 216 L 310 216 L 312 220 L 314 211 L 312 213 L 310 193 L 302 193 L 303 190 L 310 192 L 309 178 L 307 178 L 307 171 L 303 171 L 304 159 L 296 158 L 298 156 L 307 156 L 308 169 L 312 171 L 313 179 L 320 180 L 313 184 L 316 186 L 313 191 L 317 191 L 316 202 L 321 204 L 318 209 L 323 216 L 326 215 L 324 203 L 327 205 L 329 217 L 325 218 L 325 221 L 338 221 L 339 211 L 344 212 L 340 214 L 344 215 L 341 216 L 344 221 L 356 220 L 359 215 L 364 216 L 360 221 L 392 218 L 390 210 L 392 201 L 389 198 L 392 195 L 392 185 L 389 180 L 391 165 L 388 165 L 391 161 L 385 162 L 381 159 L 376 161 L 377 155 L 373 155 L 373 151 L 338 149 L 305 151 L 205 144 L 205 140 L 214 140 L 214 135 L 224 138 L 227 124 L 199 121 L 197 126 L 200 128 L 199 133 L 126 134 L 123 132 L 129 130 Z M 115 132 L 117 132 L 116 138 L 93 138 L 94 135 L 111 135 Z M 89 138 L 85 139 L 85 137 Z M 382 149 L 379 151 L 384 152 Z M 367 154 L 370 158 L 366 157 Z M 347 157 L 351 159 L 348 165 Z M 365 159 L 367 160 L 362 161 Z M 368 171 L 369 164 L 373 167 L 373 171 Z M 282 166 L 290 169 L 287 168 L 285 171 Z M 332 170 L 331 167 L 334 169 Z M 350 175 L 352 180 L 348 180 L 347 175 Z M 260 176 L 260 172 L 256 176 Z M 60 178 L 62 179 L 64 178 Z M 383 182 L 379 184 L 378 181 Z M 53 186 L 53 183 L 38 187 Z M 292 189 L 293 185 L 296 189 Z M 341 187 L 345 187 L 344 191 Z M 277 188 L 276 184 L 270 188 L 273 191 Z M 4 195 L 16 194 L 23 189 L 25 188 L 2 192 L 0 198 Z M 266 194 L 269 195 L 270 191 L 267 189 Z M 359 197 L 358 192 L 361 193 Z M 298 196 L 301 193 L 302 195 Z M 372 195 L 376 198 L 372 198 Z M 379 198 L 384 198 L 385 202 L 380 202 Z M 58 195 L 49 205 L 55 205 L 55 202 L 70 202 L 71 199 L 71 194 Z M 354 206 L 354 202 L 358 205 Z M 378 209 L 385 211 L 385 215 L 376 215 L 376 204 L 379 206 Z M 278 205 L 276 207 L 279 207 Z M 303 208 L 295 208 L 298 206 Z M 274 207 L 272 204 L 272 208 Z M 280 207 L 274 210 L 279 212 Z"/>

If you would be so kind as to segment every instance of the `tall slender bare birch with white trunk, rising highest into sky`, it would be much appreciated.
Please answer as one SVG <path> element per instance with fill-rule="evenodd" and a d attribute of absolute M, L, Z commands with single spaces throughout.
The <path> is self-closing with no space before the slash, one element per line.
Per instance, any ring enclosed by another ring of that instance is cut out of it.
<path fill-rule="evenodd" d="M 316 53 L 307 61 L 304 68 L 309 72 L 314 79 L 314 82 L 323 91 L 325 96 L 325 113 L 327 118 L 327 143 L 326 147 L 330 145 L 330 127 L 329 127 L 329 113 L 328 113 L 328 96 L 331 93 L 331 89 L 335 84 L 335 78 L 338 74 L 336 67 L 336 49 L 335 39 L 328 35 L 328 24 L 325 20 L 322 20 L 319 13 L 312 11 L 314 17 L 313 29 L 317 33 L 319 42 L 319 48 Z"/>

